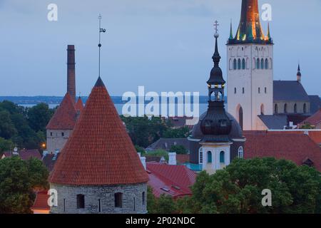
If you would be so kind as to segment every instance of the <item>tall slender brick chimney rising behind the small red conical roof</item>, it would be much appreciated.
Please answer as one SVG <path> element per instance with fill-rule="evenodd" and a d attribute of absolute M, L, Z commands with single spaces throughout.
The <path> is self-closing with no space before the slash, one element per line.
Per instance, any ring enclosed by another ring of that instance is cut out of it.
<path fill-rule="evenodd" d="M 76 72 L 75 72 L 75 46 L 67 48 L 67 92 L 71 95 L 73 103 L 76 103 Z"/>

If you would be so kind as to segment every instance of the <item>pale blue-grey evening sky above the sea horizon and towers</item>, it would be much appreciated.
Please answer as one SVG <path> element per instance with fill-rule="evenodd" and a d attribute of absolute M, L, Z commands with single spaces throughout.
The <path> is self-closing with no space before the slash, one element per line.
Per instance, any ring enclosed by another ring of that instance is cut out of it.
<path fill-rule="evenodd" d="M 321 1 L 259 0 L 272 6 L 274 79 L 296 80 L 321 95 Z M 49 21 L 49 4 L 58 21 Z M 76 46 L 76 93 L 98 78 L 98 14 L 103 16 L 101 76 L 111 95 L 126 91 L 207 93 L 218 20 L 226 78 L 230 20 L 241 0 L 0 0 L 0 95 L 64 95 L 66 48 Z M 267 22 L 261 21 L 264 31 Z M 265 32 L 266 33 L 266 32 Z"/>

